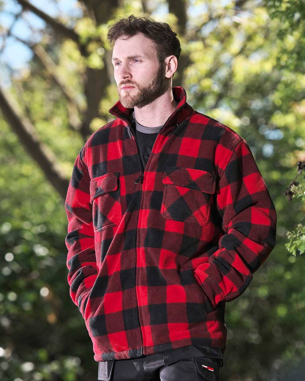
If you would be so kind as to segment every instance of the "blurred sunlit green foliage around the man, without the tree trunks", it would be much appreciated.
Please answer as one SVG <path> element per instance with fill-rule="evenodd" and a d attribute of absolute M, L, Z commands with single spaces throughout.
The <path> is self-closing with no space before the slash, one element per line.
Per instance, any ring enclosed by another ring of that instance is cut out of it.
<path fill-rule="evenodd" d="M 190 3 L 186 34 L 178 37 L 191 62 L 183 71 L 178 65 L 174 85 L 185 87 L 194 109 L 246 139 L 276 207 L 273 252 L 244 294 L 226 304 L 227 360 L 221 370 L 227 381 L 270 380 L 281 365 L 297 366 L 305 359 L 305 256 L 294 256 L 286 247 L 286 233 L 302 221 L 305 206 L 302 197 L 289 201 L 285 196 L 297 163 L 305 160 L 305 73 L 302 53 L 292 54 L 295 46 L 304 46 L 304 22 L 299 18 L 286 28 L 283 17 L 291 21 L 287 2 L 244 11 L 226 3 L 207 2 L 209 12 L 202 11 L 201 2 Z M 156 10 L 162 4 L 157 1 Z M 81 107 L 88 102 L 83 76 L 88 68 L 101 70 L 107 64 L 107 25 L 130 13 L 142 13 L 140 1 L 125 2 L 106 24 L 87 15 L 78 20 L 74 30 L 85 55 L 69 39 L 45 43 Z M 178 27 L 174 14 L 156 19 Z M 11 93 L 69 179 L 84 142 L 69 125 L 60 87 L 34 57 L 29 70 L 12 77 Z M 114 81 L 104 93 L 92 133 L 113 119 L 108 109 L 117 101 Z M 92 343 L 69 296 L 64 200 L 1 116 L 0 162 L 0 378 L 96 379 Z"/>

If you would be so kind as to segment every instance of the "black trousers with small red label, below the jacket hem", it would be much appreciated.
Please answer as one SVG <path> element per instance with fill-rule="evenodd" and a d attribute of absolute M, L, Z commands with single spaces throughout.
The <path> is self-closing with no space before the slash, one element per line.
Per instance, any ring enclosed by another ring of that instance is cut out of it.
<path fill-rule="evenodd" d="M 138 359 L 100 362 L 98 380 L 103 381 L 220 381 L 222 358 L 176 352 L 156 353 Z M 226 358 L 223 356 L 223 358 Z"/>

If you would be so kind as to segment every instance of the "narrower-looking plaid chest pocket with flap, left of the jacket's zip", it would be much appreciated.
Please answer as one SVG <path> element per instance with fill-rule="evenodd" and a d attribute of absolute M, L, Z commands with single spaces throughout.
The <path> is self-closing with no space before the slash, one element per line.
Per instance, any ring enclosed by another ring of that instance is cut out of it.
<path fill-rule="evenodd" d="M 106 173 L 90 181 L 90 203 L 94 231 L 117 225 L 122 216 L 119 172 Z"/>

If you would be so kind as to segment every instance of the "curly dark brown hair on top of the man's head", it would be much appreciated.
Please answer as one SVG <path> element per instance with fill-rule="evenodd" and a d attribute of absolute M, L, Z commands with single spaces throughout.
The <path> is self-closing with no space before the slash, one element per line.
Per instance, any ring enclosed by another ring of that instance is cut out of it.
<path fill-rule="evenodd" d="M 177 61 L 180 57 L 180 41 L 166 22 L 158 22 L 149 16 L 136 17 L 133 14 L 127 18 L 120 18 L 108 26 L 107 40 L 113 48 L 117 38 L 122 35 L 132 37 L 143 33 L 153 43 L 157 51 L 157 57 L 162 64 L 166 57 L 174 55 Z"/>

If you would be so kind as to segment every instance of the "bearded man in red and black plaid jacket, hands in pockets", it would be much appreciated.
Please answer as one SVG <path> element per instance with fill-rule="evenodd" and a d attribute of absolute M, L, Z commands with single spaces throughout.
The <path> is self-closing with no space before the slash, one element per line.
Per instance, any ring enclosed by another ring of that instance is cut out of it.
<path fill-rule="evenodd" d="M 172 87 L 169 25 L 109 28 L 119 101 L 75 160 L 70 295 L 99 380 L 219 380 L 225 304 L 271 253 L 276 211 L 246 141 Z"/>

